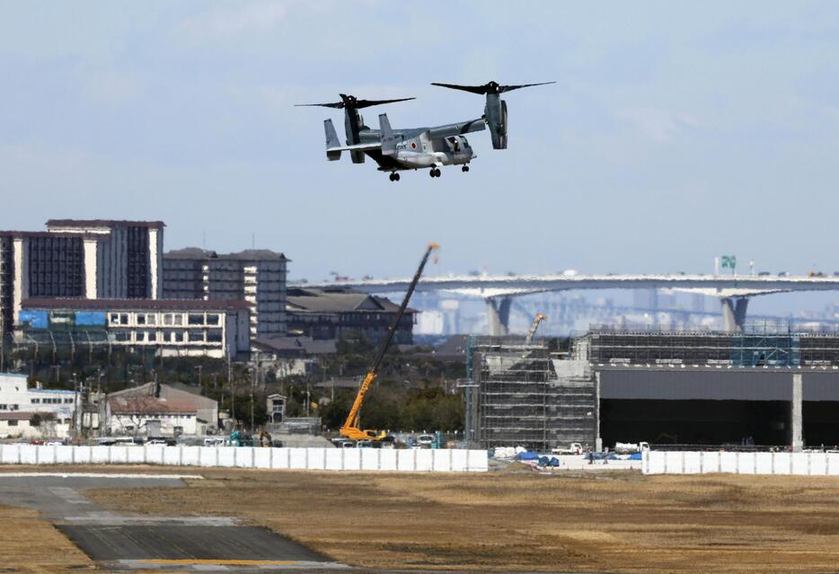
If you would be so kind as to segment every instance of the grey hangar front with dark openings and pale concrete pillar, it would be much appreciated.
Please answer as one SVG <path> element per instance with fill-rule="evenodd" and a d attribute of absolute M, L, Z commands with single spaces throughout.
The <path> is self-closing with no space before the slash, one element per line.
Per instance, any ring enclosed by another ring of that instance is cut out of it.
<path fill-rule="evenodd" d="M 839 369 L 593 366 L 598 436 L 615 442 L 839 445 Z"/>

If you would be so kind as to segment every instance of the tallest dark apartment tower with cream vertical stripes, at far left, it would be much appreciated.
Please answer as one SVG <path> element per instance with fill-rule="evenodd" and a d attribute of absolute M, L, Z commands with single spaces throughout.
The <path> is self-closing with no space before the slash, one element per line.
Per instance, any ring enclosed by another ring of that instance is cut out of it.
<path fill-rule="evenodd" d="M 163 222 L 50 219 L 47 231 L 0 231 L 0 338 L 31 297 L 157 299 Z"/>

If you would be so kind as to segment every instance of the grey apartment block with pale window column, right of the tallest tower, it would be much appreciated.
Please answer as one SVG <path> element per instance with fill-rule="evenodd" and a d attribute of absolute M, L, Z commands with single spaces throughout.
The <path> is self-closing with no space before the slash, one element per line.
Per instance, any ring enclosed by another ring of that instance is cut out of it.
<path fill-rule="evenodd" d="M 286 256 L 263 249 L 219 254 L 189 247 L 163 256 L 163 297 L 244 300 L 252 305 L 251 337 L 287 331 Z"/>

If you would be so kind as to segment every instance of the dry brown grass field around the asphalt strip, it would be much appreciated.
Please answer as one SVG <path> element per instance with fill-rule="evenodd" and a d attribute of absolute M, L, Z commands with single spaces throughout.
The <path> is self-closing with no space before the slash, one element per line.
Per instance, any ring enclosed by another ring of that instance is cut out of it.
<path fill-rule="evenodd" d="M 172 472 L 61 467 L 128 469 Z M 24 470 L 45 469 L 0 472 Z M 542 475 L 519 464 L 483 474 L 189 471 L 204 479 L 187 479 L 186 488 L 110 485 L 84 497 L 110 512 L 234 517 L 361 571 L 835 572 L 839 565 L 833 478 Z M 0 508 L 0 555 L 13 571 L 94 567 L 48 520 L 9 506 Z"/>

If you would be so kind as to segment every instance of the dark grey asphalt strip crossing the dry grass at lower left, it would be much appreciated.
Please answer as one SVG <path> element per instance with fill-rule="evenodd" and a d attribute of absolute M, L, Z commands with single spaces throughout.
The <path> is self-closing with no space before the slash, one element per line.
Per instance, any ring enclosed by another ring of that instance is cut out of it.
<path fill-rule="evenodd" d="M 261 526 L 230 517 L 147 517 L 106 511 L 84 490 L 181 488 L 179 479 L 109 476 L 4 476 L 0 504 L 34 508 L 94 561 L 111 570 L 252 572 L 335 570 L 346 566 Z"/>

